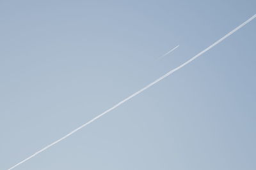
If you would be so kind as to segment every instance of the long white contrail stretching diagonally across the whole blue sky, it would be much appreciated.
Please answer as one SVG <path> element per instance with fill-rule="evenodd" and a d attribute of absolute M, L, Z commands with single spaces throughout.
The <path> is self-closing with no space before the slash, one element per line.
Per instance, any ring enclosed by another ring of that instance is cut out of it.
<path fill-rule="evenodd" d="M 163 76 L 161 76 L 160 78 L 158 78 L 157 80 L 153 81 L 152 83 L 150 83 L 149 85 L 147 85 L 146 87 L 144 87 L 143 89 L 139 90 L 138 92 L 132 94 L 131 96 L 125 98 L 123 101 L 120 101 L 120 103 L 117 103 L 115 106 L 113 106 L 112 108 L 109 108 L 108 110 L 104 111 L 103 113 L 101 113 L 100 115 L 98 115 L 97 117 L 93 118 L 92 120 L 90 120 L 89 122 L 87 122 L 86 124 L 81 125 L 80 127 L 78 127 L 77 129 L 75 129 L 74 131 L 68 133 L 67 135 L 63 136 L 62 138 L 58 139 L 57 141 L 54 141 L 54 143 L 51 143 L 50 145 L 45 146 L 44 148 L 42 148 L 41 150 L 38 150 L 38 152 L 34 153 L 33 155 L 31 155 L 30 157 L 28 157 L 27 159 L 22 160 L 21 162 L 19 162 L 18 164 L 16 164 L 13 167 L 10 167 L 10 169 L 13 169 L 14 167 L 19 166 L 20 164 L 26 162 L 27 160 L 31 159 L 32 157 L 35 157 L 35 155 L 37 155 L 38 153 L 43 152 L 44 150 L 47 150 L 48 148 L 50 148 L 51 146 L 55 145 L 56 143 L 59 143 L 60 141 L 62 141 L 65 138 L 68 138 L 68 136 L 74 134 L 75 132 L 79 131 L 80 129 L 82 129 L 83 127 L 85 127 L 88 124 L 91 124 L 92 122 L 94 122 L 95 120 L 97 120 L 98 118 L 102 117 L 103 115 L 105 115 L 106 113 L 108 113 L 111 110 L 114 110 L 115 108 L 117 108 L 118 106 L 120 106 L 121 104 L 125 103 L 126 101 L 128 101 L 129 99 L 131 99 L 132 97 L 136 96 L 137 94 L 140 94 L 141 92 L 143 92 L 144 90 L 147 90 L 149 87 L 151 87 L 152 85 L 158 83 L 159 81 L 163 80 L 164 78 L 166 78 L 167 76 L 169 76 L 170 74 L 174 73 L 175 71 L 181 69 L 182 67 L 186 66 L 187 64 L 189 64 L 189 62 L 195 60 L 197 57 L 199 57 L 200 55 L 202 55 L 203 53 L 207 52 L 208 50 L 210 50 L 212 47 L 218 45 L 218 43 L 220 43 L 221 41 L 223 41 L 224 39 L 226 39 L 228 36 L 232 35 L 234 32 L 236 32 L 238 29 L 241 29 L 241 27 L 243 27 L 244 25 L 248 24 L 249 22 L 251 22 L 254 18 L 256 17 L 256 15 L 253 15 L 253 17 L 249 18 L 248 20 L 246 20 L 246 22 L 244 22 L 243 24 L 239 25 L 238 27 L 236 27 L 236 29 L 228 32 L 228 34 L 226 34 L 225 36 L 223 36 L 221 39 L 219 39 L 218 41 L 216 41 L 215 43 L 213 43 L 212 45 L 210 45 L 209 47 L 207 47 L 205 50 L 203 50 L 202 52 L 196 54 L 194 57 L 192 57 L 191 59 L 189 59 L 188 61 L 184 62 L 183 64 L 181 64 L 179 67 L 176 67 L 175 69 L 172 69 L 171 71 L 169 71 L 168 73 L 164 74 Z M 9 169 L 9 170 L 10 170 Z"/>

